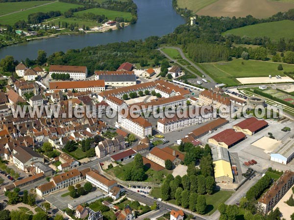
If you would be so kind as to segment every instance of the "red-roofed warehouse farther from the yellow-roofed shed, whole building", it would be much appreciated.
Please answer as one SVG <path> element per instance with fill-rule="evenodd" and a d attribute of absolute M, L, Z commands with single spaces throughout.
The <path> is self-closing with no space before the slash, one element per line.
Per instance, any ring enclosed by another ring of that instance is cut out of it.
<path fill-rule="evenodd" d="M 257 120 L 254 117 L 247 118 L 242 122 L 233 126 L 233 129 L 237 132 L 243 132 L 248 135 L 253 135 L 268 126 L 268 122 L 265 120 Z"/>

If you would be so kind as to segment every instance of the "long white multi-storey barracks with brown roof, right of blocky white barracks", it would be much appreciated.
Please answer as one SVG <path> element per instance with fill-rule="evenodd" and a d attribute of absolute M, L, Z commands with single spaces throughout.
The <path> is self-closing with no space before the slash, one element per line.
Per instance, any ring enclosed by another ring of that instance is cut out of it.
<path fill-rule="evenodd" d="M 207 107 L 207 110 L 204 112 L 205 115 L 201 115 L 200 108 L 191 109 L 183 112 L 181 117 L 177 114 L 174 114 L 172 118 L 160 118 L 157 121 L 157 130 L 161 133 L 168 133 L 177 131 L 186 127 L 190 127 L 196 124 L 201 124 L 213 119 L 213 112 L 211 107 Z"/>

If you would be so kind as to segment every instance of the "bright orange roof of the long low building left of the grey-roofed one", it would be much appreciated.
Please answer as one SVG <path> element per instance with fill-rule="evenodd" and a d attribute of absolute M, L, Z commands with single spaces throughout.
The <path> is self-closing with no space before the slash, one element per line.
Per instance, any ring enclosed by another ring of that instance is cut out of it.
<path fill-rule="evenodd" d="M 62 81 L 49 82 L 49 89 L 71 89 L 71 88 L 99 88 L 105 87 L 104 80 L 89 81 Z"/>

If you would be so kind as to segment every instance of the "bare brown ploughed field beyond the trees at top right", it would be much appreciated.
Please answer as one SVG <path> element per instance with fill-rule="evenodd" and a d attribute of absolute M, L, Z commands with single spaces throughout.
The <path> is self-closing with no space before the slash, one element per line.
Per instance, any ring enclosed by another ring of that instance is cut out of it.
<path fill-rule="evenodd" d="M 181 1 L 181 0 L 178 0 Z M 182 8 L 191 8 L 193 2 L 198 2 L 202 0 L 187 0 L 188 2 L 184 5 L 181 4 Z M 204 1 L 204 0 L 203 0 Z M 210 0 L 208 0 L 210 1 Z M 283 2 L 282 2 L 283 1 Z M 287 2 L 284 2 L 287 1 Z M 190 7 L 189 7 L 190 6 Z M 252 15 L 255 18 L 267 18 L 278 12 L 288 11 L 290 8 L 294 8 L 293 0 L 218 0 L 214 3 L 210 3 L 208 6 L 198 9 L 197 15 L 209 15 L 216 17 L 245 17 L 247 15 Z"/>

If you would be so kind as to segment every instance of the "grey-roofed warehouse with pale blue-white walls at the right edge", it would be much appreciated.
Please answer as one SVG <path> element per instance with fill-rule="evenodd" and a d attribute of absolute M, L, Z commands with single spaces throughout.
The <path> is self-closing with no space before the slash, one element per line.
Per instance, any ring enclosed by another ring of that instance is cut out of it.
<path fill-rule="evenodd" d="M 294 138 L 289 137 L 270 154 L 270 160 L 287 164 L 294 158 Z"/>

